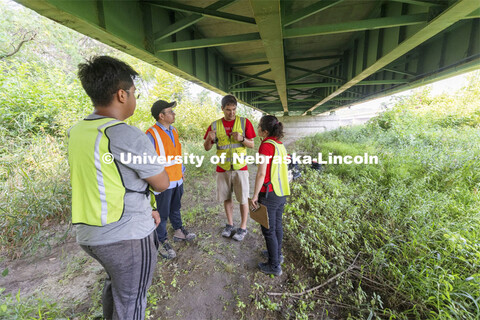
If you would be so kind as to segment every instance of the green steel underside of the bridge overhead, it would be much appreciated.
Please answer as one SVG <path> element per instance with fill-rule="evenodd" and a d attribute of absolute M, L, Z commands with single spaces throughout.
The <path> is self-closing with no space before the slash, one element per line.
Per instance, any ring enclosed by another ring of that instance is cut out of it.
<path fill-rule="evenodd" d="M 480 0 L 16 1 L 270 114 L 319 114 L 480 68 Z"/>

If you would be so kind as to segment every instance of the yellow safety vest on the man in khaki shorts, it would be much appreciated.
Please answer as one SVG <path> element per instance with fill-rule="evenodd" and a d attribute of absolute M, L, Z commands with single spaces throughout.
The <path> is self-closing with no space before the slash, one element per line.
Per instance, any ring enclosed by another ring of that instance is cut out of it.
<path fill-rule="evenodd" d="M 238 132 L 245 136 L 245 124 L 246 119 L 243 117 L 235 117 L 235 123 L 233 124 L 232 133 Z M 218 166 L 223 170 L 230 170 L 233 167 L 233 170 L 239 170 L 245 167 L 245 161 L 236 161 L 233 162 L 233 154 L 238 154 L 239 156 L 247 155 L 247 148 L 243 143 L 236 141 L 231 134 L 230 137 L 227 136 L 225 127 L 223 126 L 222 119 L 219 119 L 215 122 L 212 122 L 211 128 L 217 133 L 217 156 L 226 154 L 226 160 L 224 163 L 219 163 Z"/>

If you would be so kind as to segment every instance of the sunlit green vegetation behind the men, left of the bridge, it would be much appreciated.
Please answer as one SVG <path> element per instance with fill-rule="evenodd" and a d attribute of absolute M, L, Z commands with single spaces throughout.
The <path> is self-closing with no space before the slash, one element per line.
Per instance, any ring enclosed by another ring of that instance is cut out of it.
<path fill-rule="evenodd" d="M 116 56 L 141 74 L 136 83 L 141 97 L 129 124 L 148 129 L 154 123 L 152 103 L 157 99 L 176 100 L 181 138 L 193 141 L 184 143 L 185 150 L 205 154 L 200 141 L 211 119 L 219 115 L 219 101 L 205 93 L 192 96 L 187 81 L 16 4 L 2 1 L 0 9 L 5 13 L 0 22 L 5 30 L 0 37 L 5 44 L 0 57 L 18 45 L 21 35 L 36 34 L 18 53 L 0 59 L 0 247 L 11 257 L 48 243 L 39 241 L 42 226 L 48 221 L 69 223 L 65 133 L 93 110 L 76 77 L 78 63 L 88 57 Z M 205 170 L 214 169 L 187 165 L 187 175 L 199 176 Z"/>

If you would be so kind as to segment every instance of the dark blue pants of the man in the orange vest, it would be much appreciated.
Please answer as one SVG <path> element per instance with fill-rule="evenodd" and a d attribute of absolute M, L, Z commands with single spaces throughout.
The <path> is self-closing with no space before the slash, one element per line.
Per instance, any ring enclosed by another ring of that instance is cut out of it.
<path fill-rule="evenodd" d="M 180 229 L 182 224 L 182 216 L 180 215 L 181 200 L 183 195 L 183 184 L 172 189 L 167 189 L 155 196 L 157 201 L 157 210 L 160 213 L 160 224 L 157 227 L 158 240 L 164 242 L 167 240 L 167 220 L 174 230 Z"/>

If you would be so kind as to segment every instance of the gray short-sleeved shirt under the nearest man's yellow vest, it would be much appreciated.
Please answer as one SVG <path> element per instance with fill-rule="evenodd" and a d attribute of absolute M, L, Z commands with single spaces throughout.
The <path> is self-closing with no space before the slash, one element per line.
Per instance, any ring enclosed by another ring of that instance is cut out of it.
<path fill-rule="evenodd" d="M 100 119 L 102 116 L 91 114 L 86 119 Z M 110 139 L 110 151 L 118 164 L 126 188 L 144 191 L 147 188 L 145 178 L 152 177 L 164 170 L 158 163 L 123 164 L 120 154 L 130 152 L 133 155 L 156 156 L 155 148 L 147 135 L 140 129 L 128 124 L 118 124 L 105 130 Z M 103 227 L 77 225 L 77 242 L 82 245 L 96 246 L 122 240 L 143 239 L 155 230 L 150 200 L 145 194 L 127 192 L 124 197 L 125 210 L 122 218 Z"/>

